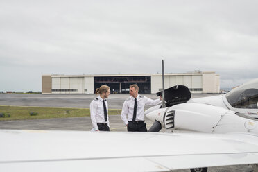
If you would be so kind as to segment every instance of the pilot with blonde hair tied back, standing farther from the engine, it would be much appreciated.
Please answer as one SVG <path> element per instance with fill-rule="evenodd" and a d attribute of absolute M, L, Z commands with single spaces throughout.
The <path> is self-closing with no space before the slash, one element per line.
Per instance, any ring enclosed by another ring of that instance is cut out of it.
<path fill-rule="evenodd" d="M 108 105 L 107 100 L 110 95 L 110 87 L 101 85 L 96 89 L 98 97 L 89 105 L 92 126 L 95 131 L 110 131 L 110 122 L 108 121 Z"/>

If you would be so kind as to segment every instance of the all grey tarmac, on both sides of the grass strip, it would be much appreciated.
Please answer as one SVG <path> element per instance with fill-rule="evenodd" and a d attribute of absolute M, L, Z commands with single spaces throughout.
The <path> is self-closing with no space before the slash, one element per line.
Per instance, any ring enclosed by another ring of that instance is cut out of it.
<path fill-rule="evenodd" d="M 149 98 L 157 98 L 155 94 L 145 94 Z M 192 97 L 215 96 L 214 94 L 193 94 Z M 96 95 L 90 94 L 0 94 L 0 105 L 18 106 L 40 106 L 40 107 L 80 107 L 88 108 L 89 103 Z M 123 101 L 128 98 L 128 94 L 111 94 L 108 98 L 109 108 L 121 109 Z M 148 107 L 146 107 L 148 108 Z M 1 109 L 1 107 L 0 107 Z M 152 125 L 146 119 L 147 128 Z M 19 121 L 0 121 L 0 129 L 17 130 L 85 130 L 92 129 L 90 117 L 72 117 L 63 119 L 37 119 Z M 110 115 L 110 130 L 112 132 L 124 132 L 126 126 L 123 124 L 120 115 Z M 162 130 L 164 131 L 164 130 Z M 162 132 L 161 131 L 161 132 Z M 230 171 L 252 171 L 250 165 L 238 166 L 218 166 L 208 169 L 209 172 L 230 172 Z M 176 172 L 189 172 L 189 169 L 176 170 Z"/>

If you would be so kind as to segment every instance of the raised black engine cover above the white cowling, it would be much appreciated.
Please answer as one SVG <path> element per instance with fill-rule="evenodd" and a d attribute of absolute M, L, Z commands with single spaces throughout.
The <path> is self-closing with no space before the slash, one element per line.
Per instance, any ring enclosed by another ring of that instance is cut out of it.
<path fill-rule="evenodd" d="M 162 96 L 162 91 L 156 93 L 157 96 Z M 166 107 L 186 103 L 191 98 L 191 92 L 184 85 L 175 85 L 165 89 Z"/>

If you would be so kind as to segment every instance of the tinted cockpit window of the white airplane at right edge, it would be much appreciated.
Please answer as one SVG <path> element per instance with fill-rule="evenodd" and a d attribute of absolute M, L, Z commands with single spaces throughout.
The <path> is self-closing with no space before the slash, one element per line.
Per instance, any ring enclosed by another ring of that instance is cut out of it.
<path fill-rule="evenodd" d="M 258 89 L 241 89 L 226 97 L 232 107 L 246 109 L 258 108 Z"/>

